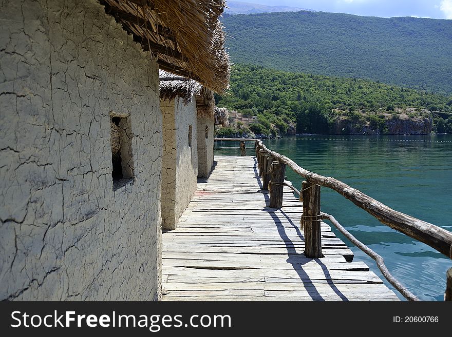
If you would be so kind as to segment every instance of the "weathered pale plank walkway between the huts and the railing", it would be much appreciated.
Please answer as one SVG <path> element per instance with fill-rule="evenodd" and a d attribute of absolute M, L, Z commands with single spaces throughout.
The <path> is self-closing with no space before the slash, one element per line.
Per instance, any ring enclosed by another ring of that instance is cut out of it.
<path fill-rule="evenodd" d="M 302 204 L 268 208 L 255 157 L 216 156 L 208 180 L 163 233 L 164 301 L 397 301 L 322 223 L 322 259 L 304 255 Z"/>

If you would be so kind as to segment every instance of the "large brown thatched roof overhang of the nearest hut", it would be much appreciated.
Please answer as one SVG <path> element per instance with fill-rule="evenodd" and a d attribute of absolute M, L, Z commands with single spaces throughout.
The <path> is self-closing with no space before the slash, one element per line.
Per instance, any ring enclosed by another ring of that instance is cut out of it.
<path fill-rule="evenodd" d="M 160 69 L 222 92 L 229 87 L 229 56 L 219 16 L 224 0 L 100 0 Z"/>

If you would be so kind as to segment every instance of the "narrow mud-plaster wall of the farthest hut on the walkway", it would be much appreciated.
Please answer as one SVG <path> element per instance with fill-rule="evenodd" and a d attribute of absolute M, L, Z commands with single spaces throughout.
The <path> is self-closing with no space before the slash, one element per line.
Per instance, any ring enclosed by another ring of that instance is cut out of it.
<path fill-rule="evenodd" d="M 209 136 L 205 138 L 205 127 L 209 127 Z M 206 178 L 214 162 L 214 119 L 197 118 L 198 129 L 198 176 Z"/>

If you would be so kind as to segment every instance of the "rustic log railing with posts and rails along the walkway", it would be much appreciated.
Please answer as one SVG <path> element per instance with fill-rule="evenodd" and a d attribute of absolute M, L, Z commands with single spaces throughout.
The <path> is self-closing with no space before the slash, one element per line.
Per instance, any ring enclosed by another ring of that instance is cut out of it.
<path fill-rule="evenodd" d="M 310 172 L 293 162 L 290 158 L 269 150 L 262 141 L 252 138 L 215 138 L 215 141 L 240 141 L 240 145 L 246 141 L 255 142 L 255 154 L 259 168 L 259 176 L 262 177 L 262 189 L 270 190 L 270 207 L 281 208 L 283 206 L 283 189 L 288 186 L 299 195 L 303 201 L 302 227 L 305 234 L 305 255 L 319 258 L 322 255 L 321 220 L 329 220 L 340 230 L 356 247 L 363 250 L 377 262 L 386 279 L 398 289 L 407 299 L 417 300 L 416 296 L 403 287 L 387 270 L 383 258 L 369 247 L 358 241 L 352 234 L 343 228 L 332 215 L 321 212 L 320 193 L 321 187 L 330 188 L 343 195 L 356 206 L 362 208 L 381 223 L 396 229 L 412 239 L 421 241 L 436 249 L 440 253 L 452 259 L 452 232 L 428 222 L 416 219 L 410 215 L 398 212 L 364 194 L 363 192 L 337 180 Z M 285 180 L 286 166 L 292 171 L 304 177 L 302 189 L 298 191 L 292 183 Z M 446 292 L 444 299 L 452 301 L 452 268 L 446 273 Z"/>

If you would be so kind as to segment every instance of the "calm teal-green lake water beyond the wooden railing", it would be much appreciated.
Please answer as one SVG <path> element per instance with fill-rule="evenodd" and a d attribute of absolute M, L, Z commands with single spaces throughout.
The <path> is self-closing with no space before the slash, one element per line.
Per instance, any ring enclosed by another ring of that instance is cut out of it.
<path fill-rule="evenodd" d="M 247 147 L 254 146 L 252 143 Z M 264 144 L 307 170 L 333 176 L 394 210 L 452 231 L 450 135 L 293 136 Z M 238 143 L 215 143 L 215 147 L 235 145 Z M 239 155 L 239 151 L 223 149 L 215 150 L 215 154 Z M 254 151 L 249 149 L 247 154 Z M 294 186 L 301 186 L 302 178 L 290 168 L 286 175 Z M 390 272 L 421 300 L 443 300 L 445 273 L 452 267 L 450 259 L 381 224 L 328 188 L 322 188 L 321 205 L 322 211 L 332 214 L 358 240 L 382 255 Z M 392 288 L 374 261 L 332 228 L 351 247 L 355 261 L 364 261 Z M 394 292 L 403 299 L 397 290 Z"/>

